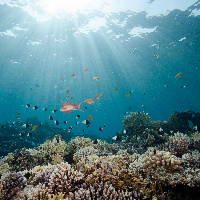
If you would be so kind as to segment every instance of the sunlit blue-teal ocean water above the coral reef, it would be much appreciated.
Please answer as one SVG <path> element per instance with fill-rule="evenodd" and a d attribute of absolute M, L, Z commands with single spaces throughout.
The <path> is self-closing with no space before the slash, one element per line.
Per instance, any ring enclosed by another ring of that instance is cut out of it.
<path fill-rule="evenodd" d="M 0 2 L 0 123 L 36 117 L 66 134 L 73 126 L 77 135 L 84 129 L 100 138 L 115 136 L 126 112 L 161 121 L 174 111 L 200 112 L 199 1 L 122 2 L 76 12 Z M 64 102 L 83 102 L 83 112 L 60 112 Z"/>

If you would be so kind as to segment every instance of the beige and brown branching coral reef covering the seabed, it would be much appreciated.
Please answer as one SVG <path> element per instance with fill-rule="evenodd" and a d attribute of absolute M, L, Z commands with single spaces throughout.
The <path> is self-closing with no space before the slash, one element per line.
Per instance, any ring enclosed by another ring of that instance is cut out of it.
<path fill-rule="evenodd" d="M 175 112 L 161 122 L 130 113 L 111 143 L 58 134 L 15 150 L 0 160 L 0 198 L 199 199 L 199 116 Z"/>

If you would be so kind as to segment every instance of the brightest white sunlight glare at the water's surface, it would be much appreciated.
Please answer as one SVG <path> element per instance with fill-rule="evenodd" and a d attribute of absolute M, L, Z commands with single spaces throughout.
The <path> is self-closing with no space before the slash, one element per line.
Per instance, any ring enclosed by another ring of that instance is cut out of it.
<path fill-rule="evenodd" d="M 41 0 L 41 7 L 50 14 L 90 10 L 92 0 Z"/>

